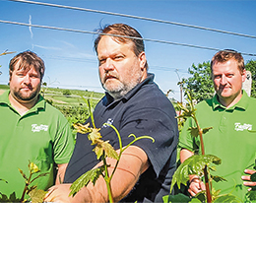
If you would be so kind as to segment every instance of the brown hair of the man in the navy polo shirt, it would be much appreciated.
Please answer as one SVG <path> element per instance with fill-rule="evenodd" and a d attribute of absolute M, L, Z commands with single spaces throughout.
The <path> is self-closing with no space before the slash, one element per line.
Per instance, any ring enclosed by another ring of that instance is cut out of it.
<path fill-rule="evenodd" d="M 99 29 L 98 36 L 95 40 L 95 50 L 97 53 L 97 45 L 101 37 L 106 34 L 113 34 L 112 38 L 121 43 L 133 43 L 133 50 L 136 56 L 139 56 L 141 52 L 145 51 L 145 45 L 142 35 L 137 32 L 134 28 L 126 24 L 113 24 L 106 25 L 102 29 Z M 119 36 L 114 36 L 119 35 Z M 123 35 L 123 36 L 122 36 Z M 148 69 L 148 63 L 146 63 L 146 68 Z"/>

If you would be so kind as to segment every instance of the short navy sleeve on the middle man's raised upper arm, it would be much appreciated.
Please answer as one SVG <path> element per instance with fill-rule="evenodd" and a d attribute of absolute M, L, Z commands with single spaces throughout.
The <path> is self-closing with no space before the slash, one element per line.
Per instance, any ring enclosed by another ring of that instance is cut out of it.
<path fill-rule="evenodd" d="M 130 110 L 122 121 L 120 135 L 124 146 L 128 145 L 134 137 L 150 136 L 154 139 L 141 139 L 135 146 L 144 150 L 151 161 L 157 175 L 163 169 L 170 156 L 176 152 L 178 141 L 177 120 L 172 104 L 168 101 L 160 107 L 144 107 Z M 167 108 L 166 108 L 167 106 Z"/>

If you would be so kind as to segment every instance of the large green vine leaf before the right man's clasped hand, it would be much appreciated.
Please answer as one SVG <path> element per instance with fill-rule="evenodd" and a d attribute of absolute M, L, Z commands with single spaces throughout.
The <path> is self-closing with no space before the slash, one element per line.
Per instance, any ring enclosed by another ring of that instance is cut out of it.
<path fill-rule="evenodd" d="M 221 164 L 221 162 L 221 159 L 213 155 L 194 155 L 184 160 L 172 176 L 170 191 L 172 191 L 176 183 L 179 189 L 181 184 L 186 186 L 189 181 L 189 175 L 196 174 L 200 176 L 205 165 L 210 163 Z"/>

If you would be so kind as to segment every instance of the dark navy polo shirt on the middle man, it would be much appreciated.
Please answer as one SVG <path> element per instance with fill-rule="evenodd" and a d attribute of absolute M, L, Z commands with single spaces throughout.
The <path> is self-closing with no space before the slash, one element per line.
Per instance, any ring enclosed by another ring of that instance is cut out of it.
<path fill-rule="evenodd" d="M 147 79 L 122 98 L 114 100 L 106 94 L 97 103 L 94 117 L 96 128 L 101 128 L 102 139 L 109 140 L 115 150 L 119 149 L 116 133 L 104 123 L 110 123 L 118 129 L 123 146 L 133 140 L 133 137 L 128 137 L 130 134 L 136 137 L 148 135 L 155 139 L 155 143 L 142 139 L 134 144 L 144 150 L 151 166 L 121 202 L 162 202 L 162 196 L 169 193 L 176 168 L 178 128 L 174 107 L 154 83 L 154 75 L 149 74 Z M 93 152 L 95 146 L 91 143 L 87 134 L 78 134 L 66 170 L 65 183 L 74 182 L 98 163 Z"/>

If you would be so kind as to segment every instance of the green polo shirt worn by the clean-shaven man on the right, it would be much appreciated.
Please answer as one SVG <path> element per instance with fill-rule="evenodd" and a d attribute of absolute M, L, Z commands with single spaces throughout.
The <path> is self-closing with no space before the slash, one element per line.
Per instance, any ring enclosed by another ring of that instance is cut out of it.
<path fill-rule="evenodd" d="M 199 126 L 213 127 L 203 135 L 206 154 L 212 154 L 222 160 L 213 174 L 223 176 L 227 181 L 215 182 L 213 187 L 221 189 L 221 194 L 231 193 L 241 201 L 247 192 L 241 179 L 244 169 L 253 168 L 256 159 L 256 99 L 243 96 L 230 108 L 224 107 L 218 97 L 204 100 L 196 105 L 196 117 Z M 196 127 L 194 120 L 189 118 L 181 131 L 179 147 L 190 151 L 200 149 L 200 140 L 193 138 L 189 127 Z"/>

